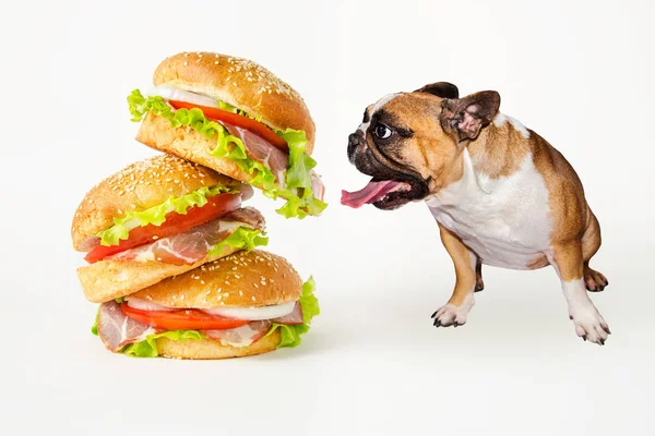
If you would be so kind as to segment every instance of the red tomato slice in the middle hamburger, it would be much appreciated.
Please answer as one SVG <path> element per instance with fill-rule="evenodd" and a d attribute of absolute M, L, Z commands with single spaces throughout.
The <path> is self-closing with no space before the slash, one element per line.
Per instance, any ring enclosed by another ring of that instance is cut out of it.
<path fill-rule="evenodd" d="M 195 226 L 218 218 L 221 215 L 234 210 L 241 205 L 241 194 L 218 194 L 207 198 L 207 203 L 202 206 L 193 206 L 187 209 L 187 215 L 169 211 L 166 214 L 166 221 L 162 226 L 147 225 L 130 230 L 129 238 L 121 240 L 118 245 L 98 245 L 93 249 L 84 259 L 94 264 L 112 254 L 124 252 L 126 250 L 150 244 L 155 239 L 168 238 L 174 234 L 184 232 Z"/>

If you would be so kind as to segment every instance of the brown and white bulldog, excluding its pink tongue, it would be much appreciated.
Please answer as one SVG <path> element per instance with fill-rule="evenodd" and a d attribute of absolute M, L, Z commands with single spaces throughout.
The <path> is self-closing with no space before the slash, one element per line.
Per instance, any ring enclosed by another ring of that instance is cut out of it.
<path fill-rule="evenodd" d="M 374 180 L 404 187 L 373 203 L 425 199 L 455 266 L 455 289 L 434 326 L 466 323 L 481 265 L 560 277 L 575 332 L 604 344 L 609 327 L 587 295 L 608 283 L 590 267 L 600 228 L 571 165 L 546 140 L 499 112 L 496 92 L 457 98 L 439 82 L 383 97 L 349 136 L 348 157 Z"/>

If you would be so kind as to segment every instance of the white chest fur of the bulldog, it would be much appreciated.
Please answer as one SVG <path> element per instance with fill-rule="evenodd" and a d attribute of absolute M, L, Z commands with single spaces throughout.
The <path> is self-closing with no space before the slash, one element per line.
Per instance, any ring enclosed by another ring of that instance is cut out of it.
<path fill-rule="evenodd" d="M 476 174 L 464 150 L 462 179 L 426 199 L 434 219 L 492 266 L 529 269 L 550 250 L 550 207 L 532 156 L 509 177 Z"/>

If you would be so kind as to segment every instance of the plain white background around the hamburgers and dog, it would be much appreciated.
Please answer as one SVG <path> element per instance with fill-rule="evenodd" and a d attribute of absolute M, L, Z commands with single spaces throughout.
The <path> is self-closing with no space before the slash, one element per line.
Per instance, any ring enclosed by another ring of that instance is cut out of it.
<path fill-rule="evenodd" d="M 628 0 L 2 2 L 2 433 L 654 434 L 654 12 Z M 323 313 L 300 348 L 138 360 L 90 334 L 73 211 L 153 155 L 132 140 L 126 96 L 184 50 L 260 62 L 315 120 L 324 215 L 285 221 L 278 204 L 251 202 L 270 249 L 317 279 Z M 497 89 L 501 110 L 577 170 L 604 232 L 593 265 L 610 286 L 592 298 L 614 332 L 605 348 L 575 336 L 550 268 L 485 267 L 467 325 L 434 329 L 454 274 L 427 207 L 340 205 L 341 189 L 368 180 L 346 158 L 365 107 L 436 81 Z"/>

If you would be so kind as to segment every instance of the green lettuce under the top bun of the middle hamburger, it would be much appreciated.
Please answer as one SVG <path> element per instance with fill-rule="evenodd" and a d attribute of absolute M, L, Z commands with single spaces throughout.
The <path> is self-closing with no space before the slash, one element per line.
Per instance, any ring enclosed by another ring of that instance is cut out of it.
<path fill-rule="evenodd" d="M 145 210 L 130 211 L 121 218 L 114 218 L 114 226 L 96 233 L 96 235 L 100 238 L 100 245 L 118 245 L 120 240 L 128 239 L 130 230 L 126 227 L 126 223 L 133 219 L 139 220 L 139 225 L 142 227 L 147 225 L 162 226 L 162 223 L 166 221 L 166 214 L 168 214 L 169 210 L 187 215 L 189 208 L 193 206 L 204 206 L 207 203 L 209 197 L 223 193 L 236 192 L 238 191 L 229 186 L 217 185 L 214 187 L 203 186 L 198 191 L 193 191 L 192 193 L 179 197 L 171 195 L 166 202 L 157 206 L 150 207 Z"/>

